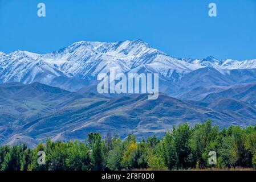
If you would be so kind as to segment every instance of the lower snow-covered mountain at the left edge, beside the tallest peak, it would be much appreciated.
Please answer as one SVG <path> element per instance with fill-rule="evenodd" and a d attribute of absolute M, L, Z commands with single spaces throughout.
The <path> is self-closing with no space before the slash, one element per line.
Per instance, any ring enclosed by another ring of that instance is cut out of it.
<path fill-rule="evenodd" d="M 58 77 L 66 74 L 48 64 L 35 53 L 15 51 L 0 57 L 0 82 L 28 84 L 40 81 L 47 75 Z"/>

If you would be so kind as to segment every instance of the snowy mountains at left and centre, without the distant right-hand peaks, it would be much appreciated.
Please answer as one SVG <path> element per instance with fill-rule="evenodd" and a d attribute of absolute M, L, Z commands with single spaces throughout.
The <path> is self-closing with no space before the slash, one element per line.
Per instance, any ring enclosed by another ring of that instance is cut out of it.
<path fill-rule="evenodd" d="M 142 40 L 115 43 L 77 42 L 52 53 L 39 55 L 15 51 L 0 57 L 0 82 L 42 82 L 50 84 L 57 77 L 96 80 L 99 73 L 159 73 L 164 79 L 178 79 L 201 68 L 166 55 Z"/>

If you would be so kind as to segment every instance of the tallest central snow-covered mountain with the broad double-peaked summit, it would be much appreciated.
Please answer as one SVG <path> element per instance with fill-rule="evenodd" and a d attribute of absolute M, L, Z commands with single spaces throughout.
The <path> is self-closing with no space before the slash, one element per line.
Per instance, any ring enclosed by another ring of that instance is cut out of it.
<path fill-rule="evenodd" d="M 109 68 L 113 67 L 117 68 L 117 72 L 123 73 L 152 63 L 156 68 L 172 69 L 179 73 L 199 68 L 173 59 L 142 40 L 116 43 L 78 42 L 43 57 L 70 76 L 92 79 L 99 73 L 108 73 Z"/>

